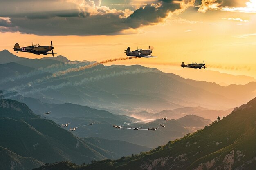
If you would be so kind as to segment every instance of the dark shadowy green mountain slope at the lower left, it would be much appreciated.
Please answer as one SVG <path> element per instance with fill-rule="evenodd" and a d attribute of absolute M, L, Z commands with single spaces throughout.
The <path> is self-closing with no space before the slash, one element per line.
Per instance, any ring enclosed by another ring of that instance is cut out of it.
<path fill-rule="evenodd" d="M 53 121 L 35 115 L 26 104 L 10 99 L 0 99 L 0 136 L 4 139 L 0 140 L 1 153 L 7 155 L 1 157 L 0 169 L 31 169 L 63 160 L 89 163 L 150 150 L 125 141 L 78 138 Z M 124 148 L 116 152 L 115 146 Z"/>

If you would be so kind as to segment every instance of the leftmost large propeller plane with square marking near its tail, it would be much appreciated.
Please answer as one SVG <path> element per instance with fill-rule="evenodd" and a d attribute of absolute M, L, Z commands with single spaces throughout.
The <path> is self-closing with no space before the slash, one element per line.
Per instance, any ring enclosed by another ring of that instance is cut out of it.
<path fill-rule="evenodd" d="M 17 51 L 17 53 L 20 51 L 20 52 L 33 53 L 38 55 L 52 54 L 52 57 L 54 57 L 54 54 L 57 54 L 53 52 L 54 47 L 52 46 L 52 41 L 51 41 L 51 46 L 40 46 L 39 44 L 36 44 L 36 45 L 32 44 L 32 46 L 25 46 L 22 48 L 20 48 L 19 43 L 16 43 L 13 49 L 14 51 Z M 52 53 L 47 53 L 48 51 L 51 51 L 51 50 L 52 50 Z"/>

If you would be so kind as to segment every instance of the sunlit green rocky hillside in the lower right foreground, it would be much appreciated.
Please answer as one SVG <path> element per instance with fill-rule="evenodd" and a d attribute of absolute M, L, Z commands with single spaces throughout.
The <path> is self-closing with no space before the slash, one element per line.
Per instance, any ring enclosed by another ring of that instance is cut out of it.
<path fill-rule="evenodd" d="M 254 170 L 255 144 L 256 98 L 219 122 L 150 152 L 83 167 L 62 162 L 36 170 Z"/>

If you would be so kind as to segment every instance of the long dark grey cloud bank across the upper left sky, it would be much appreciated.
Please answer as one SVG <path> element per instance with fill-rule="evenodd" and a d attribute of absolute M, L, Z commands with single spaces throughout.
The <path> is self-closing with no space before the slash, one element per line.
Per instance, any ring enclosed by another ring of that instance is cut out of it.
<path fill-rule="evenodd" d="M 130 28 L 155 24 L 180 9 L 182 0 L 156 0 L 135 10 L 121 11 L 100 6 L 100 0 L 0 0 L 0 17 L 11 24 L 1 29 L 36 35 L 113 35 Z M 84 2 L 81 6 L 80 2 Z M 3 7 L 3 5 L 5 7 Z M 80 6 L 79 6 L 80 5 Z M 56 10 L 58 9 L 58 10 Z"/>

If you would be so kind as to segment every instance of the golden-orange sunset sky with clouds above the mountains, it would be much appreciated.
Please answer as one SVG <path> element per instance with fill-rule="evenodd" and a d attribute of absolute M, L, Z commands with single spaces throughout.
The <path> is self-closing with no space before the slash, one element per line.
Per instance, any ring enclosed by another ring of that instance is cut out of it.
<path fill-rule="evenodd" d="M 0 51 L 50 45 L 70 60 L 126 57 L 130 46 L 158 58 L 122 60 L 185 78 L 180 64 L 205 61 L 207 70 L 256 78 L 256 0 L 0 0 Z M 217 82 L 218 77 L 213 81 Z"/>

